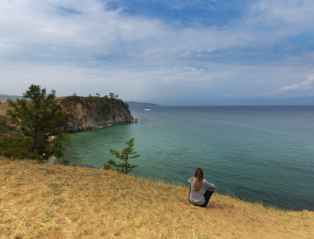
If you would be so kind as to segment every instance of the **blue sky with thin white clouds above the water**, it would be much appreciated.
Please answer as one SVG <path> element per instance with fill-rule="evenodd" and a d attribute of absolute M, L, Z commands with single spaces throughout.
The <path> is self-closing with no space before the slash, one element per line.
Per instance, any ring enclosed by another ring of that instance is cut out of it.
<path fill-rule="evenodd" d="M 313 0 L 1 0 L 0 94 L 314 96 Z"/>

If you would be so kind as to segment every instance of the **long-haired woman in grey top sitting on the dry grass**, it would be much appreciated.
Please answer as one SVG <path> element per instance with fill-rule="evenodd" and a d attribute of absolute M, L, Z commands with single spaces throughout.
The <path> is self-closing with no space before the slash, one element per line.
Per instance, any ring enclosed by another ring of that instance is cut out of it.
<path fill-rule="evenodd" d="M 190 185 L 189 201 L 196 206 L 209 206 L 208 201 L 211 195 L 214 193 L 216 186 L 208 183 L 203 177 L 203 170 L 197 168 L 195 170 L 194 177 L 187 181 Z M 205 188 L 207 190 L 204 193 Z M 203 194 L 204 193 L 204 194 Z"/>

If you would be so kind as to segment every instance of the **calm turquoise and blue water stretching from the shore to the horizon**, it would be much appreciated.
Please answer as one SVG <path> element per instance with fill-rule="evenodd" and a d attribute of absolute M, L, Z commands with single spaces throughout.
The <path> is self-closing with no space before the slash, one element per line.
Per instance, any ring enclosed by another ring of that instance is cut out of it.
<path fill-rule="evenodd" d="M 187 180 L 197 167 L 217 186 L 246 200 L 314 210 L 314 106 L 130 107 L 137 123 L 74 133 L 72 165 L 101 167 L 135 138 L 141 156 L 131 174 Z"/>

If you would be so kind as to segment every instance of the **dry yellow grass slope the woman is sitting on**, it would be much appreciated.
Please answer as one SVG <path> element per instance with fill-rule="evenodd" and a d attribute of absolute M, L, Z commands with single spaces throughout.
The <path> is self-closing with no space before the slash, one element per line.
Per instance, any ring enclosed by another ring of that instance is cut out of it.
<path fill-rule="evenodd" d="M 0 159 L 0 238 L 314 238 L 314 212 L 282 211 L 102 169 Z"/>

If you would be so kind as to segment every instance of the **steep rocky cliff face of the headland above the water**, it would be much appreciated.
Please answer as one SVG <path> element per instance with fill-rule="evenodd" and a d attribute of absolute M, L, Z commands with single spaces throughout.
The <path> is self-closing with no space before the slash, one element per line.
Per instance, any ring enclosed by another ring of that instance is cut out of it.
<path fill-rule="evenodd" d="M 64 132 L 79 132 L 115 123 L 134 122 L 128 105 L 120 99 L 69 96 L 61 101 L 66 117 Z"/>

